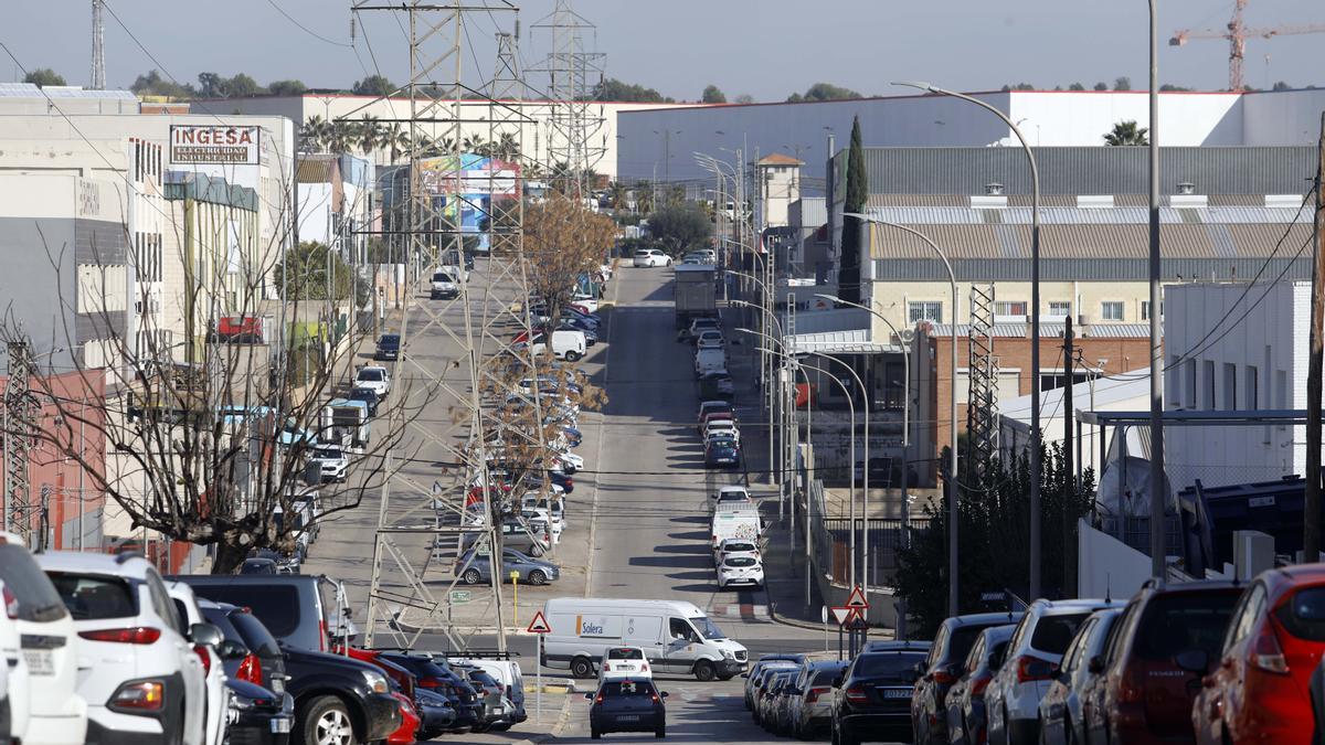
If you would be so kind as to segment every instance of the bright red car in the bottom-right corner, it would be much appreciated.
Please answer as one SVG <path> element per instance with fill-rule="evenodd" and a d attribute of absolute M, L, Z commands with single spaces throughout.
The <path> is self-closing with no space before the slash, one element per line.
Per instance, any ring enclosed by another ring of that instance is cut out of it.
<path fill-rule="evenodd" d="M 1313 742 L 1309 688 L 1322 651 L 1325 563 L 1263 573 L 1243 593 L 1196 696 L 1196 741 Z"/>

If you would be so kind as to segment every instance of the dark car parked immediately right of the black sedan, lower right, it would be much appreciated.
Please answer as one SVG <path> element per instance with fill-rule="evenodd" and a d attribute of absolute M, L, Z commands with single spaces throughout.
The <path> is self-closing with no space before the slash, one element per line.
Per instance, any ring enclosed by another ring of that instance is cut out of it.
<path fill-rule="evenodd" d="M 943 620 L 934 635 L 920 679 L 912 693 L 910 713 L 914 741 L 918 745 L 947 742 L 947 691 L 961 676 L 962 664 L 975 640 L 986 628 L 1022 620 L 1020 612 L 980 612 Z"/>

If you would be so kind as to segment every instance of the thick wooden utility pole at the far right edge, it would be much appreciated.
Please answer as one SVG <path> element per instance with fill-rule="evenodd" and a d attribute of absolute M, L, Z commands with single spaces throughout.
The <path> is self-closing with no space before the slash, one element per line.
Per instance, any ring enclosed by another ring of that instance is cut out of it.
<path fill-rule="evenodd" d="M 1316 260 L 1312 262 L 1312 327 L 1310 359 L 1306 367 L 1306 502 L 1302 509 L 1302 561 L 1320 561 L 1321 550 L 1321 362 L 1325 357 L 1321 323 L 1325 323 L 1325 251 L 1321 251 L 1322 225 L 1321 180 L 1325 178 L 1325 113 L 1321 113 L 1321 134 L 1316 144 L 1316 221 L 1313 243 Z"/>

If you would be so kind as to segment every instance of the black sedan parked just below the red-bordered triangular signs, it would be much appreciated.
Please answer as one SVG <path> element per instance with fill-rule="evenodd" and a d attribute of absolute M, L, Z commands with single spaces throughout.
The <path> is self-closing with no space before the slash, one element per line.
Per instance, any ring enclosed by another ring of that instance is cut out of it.
<path fill-rule="evenodd" d="M 837 680 L 832 741 L 857 745 L 910 736 L 910 697 L 925 663 L 920 650 L 861 652 Z"/>

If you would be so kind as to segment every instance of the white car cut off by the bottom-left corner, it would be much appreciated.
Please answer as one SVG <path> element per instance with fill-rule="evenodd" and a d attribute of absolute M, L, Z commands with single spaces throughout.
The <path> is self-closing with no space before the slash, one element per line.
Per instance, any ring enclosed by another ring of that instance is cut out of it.
<path fill-rule="evenodd" d="M 4 616 L 19 634 L 20 661 L 9 667 L 12 724 L 26 720 L 24 745 L 81 745 L 89 737 L 87 703 L 80 691 L 81 639 L 60 593 L 24 546 L 23 538 L 0 532 L 0 582 L 4 582 Z M 26 646 L 23 646 L 23 644 Z M 0 644 L 11 643 L 0 639 Z M 8 656 L 7 648 L 3 652 Z M 25 683 L 16 669 L 25 669 Z M 19 685 L 13 683 L 19 681 Z M 17 715 L 17 716 L 16 716 Z"/>

